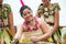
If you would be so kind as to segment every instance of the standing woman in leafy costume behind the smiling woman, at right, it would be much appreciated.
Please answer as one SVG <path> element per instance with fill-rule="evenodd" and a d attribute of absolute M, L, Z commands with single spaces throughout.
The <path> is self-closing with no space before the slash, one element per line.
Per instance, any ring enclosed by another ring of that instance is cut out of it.
<path fill-rule="evenodd" d="M 51 3 L 51 0 L 42 0 L 36 16 L 44 19 L 50 29 L 53 30 L 53 42 L 61 44 L 61 31 L 59 25 L 59 6 L 58 3 Z"/>

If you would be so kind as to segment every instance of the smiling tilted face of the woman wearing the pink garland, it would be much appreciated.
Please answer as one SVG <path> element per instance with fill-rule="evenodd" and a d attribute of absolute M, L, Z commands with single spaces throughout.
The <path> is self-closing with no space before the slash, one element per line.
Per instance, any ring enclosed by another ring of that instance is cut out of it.
<path fill-rule="evenodd" d="M 24 10 L 23 10 L 22 16 L 23 16 L 23 19 L 24 19 L 25 21 L 31 21 L 31 20 L 33 20 L 32 11 L 29 10 L 29 9 L 24 9 Z"/>

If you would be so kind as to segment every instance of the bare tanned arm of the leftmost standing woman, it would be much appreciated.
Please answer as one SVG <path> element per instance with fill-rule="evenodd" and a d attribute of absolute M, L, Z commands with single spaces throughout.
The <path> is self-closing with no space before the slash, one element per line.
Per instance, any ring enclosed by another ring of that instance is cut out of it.
<path fill-rule="evenodd" d="M 15 34 L 14 32 L 14 25 L 13 25 L 13 14 L 12 11 L 8 13 L 8 21 L 9 21 L 9 32 L 13 36 Z"/>

